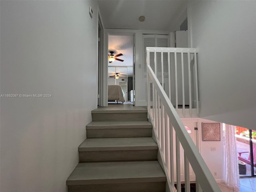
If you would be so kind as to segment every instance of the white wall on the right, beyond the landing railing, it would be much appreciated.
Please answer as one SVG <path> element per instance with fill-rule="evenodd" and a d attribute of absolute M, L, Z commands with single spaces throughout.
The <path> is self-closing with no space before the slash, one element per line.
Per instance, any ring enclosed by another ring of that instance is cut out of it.
<path fill-rule="evenodd" d="M 255 128 L 256 1 L 191 1 L 188 26 L 199 48 L 200 116 Z"/>

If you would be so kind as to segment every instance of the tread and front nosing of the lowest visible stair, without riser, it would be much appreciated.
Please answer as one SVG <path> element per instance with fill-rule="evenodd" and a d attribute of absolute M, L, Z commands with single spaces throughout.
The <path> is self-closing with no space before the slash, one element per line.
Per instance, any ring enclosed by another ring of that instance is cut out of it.
<path fill-rule="evenodd" d="M 79 163 L 67 185 L 161 182 L 166 176 L 158 161 Z"/>

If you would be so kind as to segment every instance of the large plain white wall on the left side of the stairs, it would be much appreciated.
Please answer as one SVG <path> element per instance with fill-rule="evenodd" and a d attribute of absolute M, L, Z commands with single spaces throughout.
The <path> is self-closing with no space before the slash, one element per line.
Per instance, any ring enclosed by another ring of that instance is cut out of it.
<path fill-rule="evenodd" d="M 97 2 L 1 1 L 0 18 L 1 94 L 51 94 L 1 98 L 1 192 L 65 192 L 97 108 Z"/>

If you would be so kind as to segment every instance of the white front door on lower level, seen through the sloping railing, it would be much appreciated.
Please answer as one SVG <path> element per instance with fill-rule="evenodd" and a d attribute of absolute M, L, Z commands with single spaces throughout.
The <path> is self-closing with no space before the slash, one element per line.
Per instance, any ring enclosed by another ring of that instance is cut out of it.
<path fill-rule="evenodd" d="M 197 130 L 195 128 L 197 127 L 197 122 L 194 120 L 184 120 L 182 121 L 188 134 L 194 141 L 194 144 L 197 145 Z M 175 138 L 175 135 L 174 135 Z M 176 159 L 176 157 L 174 157 Z M 176 162 L 174 162 L 174 169 L 176 169 Z M 176 172 L 176 170 L 175 170 Z M 195 181 L 196 180 L 196 175 L 194 174 L 192 167 L 189 167 L 189 172 L 190 172 L 190 181 Z M 176 174 L 174 174 L 174 180 L 176 181 Z M 184 150 L 180 144 L 180 180 L 182 182 L 185 181 L 185 176 L 184 176 Z"/>

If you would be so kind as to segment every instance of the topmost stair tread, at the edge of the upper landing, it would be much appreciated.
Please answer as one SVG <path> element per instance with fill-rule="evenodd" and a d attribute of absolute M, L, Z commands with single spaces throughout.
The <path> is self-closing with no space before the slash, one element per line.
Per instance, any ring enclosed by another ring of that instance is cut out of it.
<path fill-rule="evenodd" d="M 92 110 L 92 113 L 147 113 L 146 108 L 140 106 L 131 106 L 129 107 L 99 107 L 97 109 Z"/>

